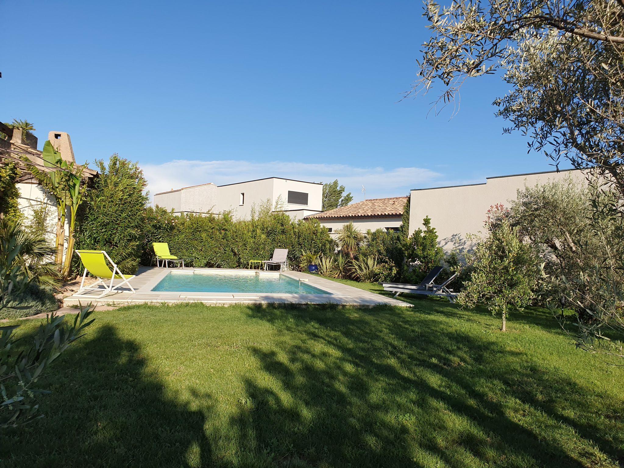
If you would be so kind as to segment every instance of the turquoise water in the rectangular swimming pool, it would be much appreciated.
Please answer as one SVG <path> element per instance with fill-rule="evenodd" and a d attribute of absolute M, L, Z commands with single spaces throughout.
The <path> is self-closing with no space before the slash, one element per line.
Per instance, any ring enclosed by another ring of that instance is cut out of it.
<path fill-rule="evenodd" d="M 169 272 L 152 291 L 185 293 L 331 294 L 284 275 Z"/>

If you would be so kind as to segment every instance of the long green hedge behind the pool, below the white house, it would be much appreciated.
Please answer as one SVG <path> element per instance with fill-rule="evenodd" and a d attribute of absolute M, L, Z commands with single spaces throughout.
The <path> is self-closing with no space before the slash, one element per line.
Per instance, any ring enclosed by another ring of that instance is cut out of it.
<path fill-rule="evenodd" d="M 167 242 L 172 255 L 192 258 L 197 267 L 246 268 L 250 260 L 268 260 L 276 248 L 288 249 L 291 268 L 303 251 L 333 253 L 335 243 L 317 220 L 295 222 L 286 213 L 261 212 L 251 220 L 223 215 L 175 216 L 147 208 L 142 263 L 149 265 L 152 242 Z"/>

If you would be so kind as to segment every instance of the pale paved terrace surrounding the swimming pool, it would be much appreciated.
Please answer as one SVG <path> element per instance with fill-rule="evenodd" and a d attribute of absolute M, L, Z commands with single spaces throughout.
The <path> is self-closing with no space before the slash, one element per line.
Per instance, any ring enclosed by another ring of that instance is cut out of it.
<path fill-rule="evenodd" d="M 353 286 L 336 283 L 336 281 L 326 280 L 316 275 L 300 273 L 299 271 L 285 271 L 281 274 L 290 276 L 295 280 L 306 280 L 309 285 L 328 291 L 331 295 L 311 295 L 311 294 L 262 294 L 262 293 L 169 293 L 166 291 L 152 291 L 160 280 L 169 271 L 180 271 L 180 268 L 148 268 L 139 269 L 137 276 L 130 280 L 132 287 L 137 291 L 135 294 L 129 288 L 120 289 L 118 293 L 111 293 L 100 299 L 77 298 L 69 296 L 63 301 L 64 306 L 78 305 L 79 303 L 92 303 L 96 306 L 102 305 L 132 305 L 132 304 L 161 304 L 161 303 L 181 303 L 181 302 L 202 302 L 210 305 L 232 305 L 232 304 L 338 304 L 349 306 L 372 307 L 376 305 L 392 305 L 411 307 L 403 301 L 399 301 L 379 294 L 364 291 Z M 252 273 L 251 270 L 231 270 L 226 268 L 185 268 L 183 271 L 215 271 L 215 272 L 245 272 L 259 275 L 276 275 L 278 272 L 258 271 Z M 115 284 L 115 283 L 114 283 Z M 97 291 L 90 294 L 97 296 Z"/>

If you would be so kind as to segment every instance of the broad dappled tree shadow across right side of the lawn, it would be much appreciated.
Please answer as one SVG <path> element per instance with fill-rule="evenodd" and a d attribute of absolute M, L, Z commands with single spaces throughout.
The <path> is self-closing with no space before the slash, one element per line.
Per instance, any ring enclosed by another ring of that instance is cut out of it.
<path fill-rule="evenodd" d="M 232 424 L 276 463 L 582 467 L 624 457 L 621 400 L 436 313 L 249 311 L 289 338 L 253 350 L 276 384 L 246 379 L 252 407 Z"/>

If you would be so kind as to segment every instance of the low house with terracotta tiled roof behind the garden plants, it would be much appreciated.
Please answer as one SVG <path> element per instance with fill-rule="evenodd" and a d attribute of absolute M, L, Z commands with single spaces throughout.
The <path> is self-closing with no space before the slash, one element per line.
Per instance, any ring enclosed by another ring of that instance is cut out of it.
<path fill-rule="evenodd" d="M 369 229 L 374 231 L 379 228 L 396 231 L 401 227 L 406 203 L 407 197 L 371 198 L 346 207 L 308 215 L 306 219 L 318 219 L 333 235 L 349 222 L 353 222 L 353 225 L 363 233 Z"/>

